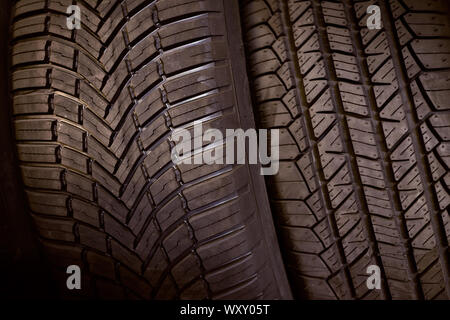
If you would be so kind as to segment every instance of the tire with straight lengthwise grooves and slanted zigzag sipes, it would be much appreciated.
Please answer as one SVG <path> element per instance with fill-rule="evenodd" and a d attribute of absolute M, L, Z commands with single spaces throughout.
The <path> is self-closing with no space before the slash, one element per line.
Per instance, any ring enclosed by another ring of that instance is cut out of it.
<path fill-rule="evenodd" d="M 295 297 L 450 297 L 448 9 L 241 1 L 257 126 L 280 129 L 267 184 Z"/>

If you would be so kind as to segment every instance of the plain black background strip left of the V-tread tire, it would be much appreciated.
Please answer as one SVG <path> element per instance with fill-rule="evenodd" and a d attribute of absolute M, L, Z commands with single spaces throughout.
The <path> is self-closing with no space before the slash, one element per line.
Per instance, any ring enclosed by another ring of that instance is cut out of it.
<path fill-rule="evenodd" d="M 52 297 L 21 186 L 9 93 L 12 0 L 0 1 L 0 297 Z"/>

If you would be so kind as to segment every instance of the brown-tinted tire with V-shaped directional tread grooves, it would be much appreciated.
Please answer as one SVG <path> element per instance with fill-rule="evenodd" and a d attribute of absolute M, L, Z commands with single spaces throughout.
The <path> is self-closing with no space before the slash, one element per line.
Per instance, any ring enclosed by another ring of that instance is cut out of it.
<path fill-rule="evenodd" d="M 237 3 L 20 0 L 13 17 L 18 158 L 61 296 L 289 298 L 258 169 L 170 157 L 195 120 L 254 126 Z"/>

